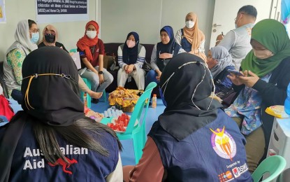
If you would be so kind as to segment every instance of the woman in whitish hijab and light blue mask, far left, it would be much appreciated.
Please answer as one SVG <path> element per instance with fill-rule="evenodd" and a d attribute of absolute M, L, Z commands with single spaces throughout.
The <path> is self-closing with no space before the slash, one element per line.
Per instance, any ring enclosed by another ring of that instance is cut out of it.
<path fill-rule="evenodd" d="M 8 94 L 18 103 L 21 103 L 22 63 L 29 52 L 37 49 L 36 43 L 39 39 L 39 33 L 36 22 L 34 20 L 21 20 L 18 22 L 14 38 L 15 42 L 5 54 L 3 78 L 8 88 Z"/>

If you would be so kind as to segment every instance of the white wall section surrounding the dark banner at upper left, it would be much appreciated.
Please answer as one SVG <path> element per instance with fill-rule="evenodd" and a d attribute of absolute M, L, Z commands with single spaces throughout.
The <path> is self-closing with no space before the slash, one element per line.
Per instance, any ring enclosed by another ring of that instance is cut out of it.
<path fill-rule="evenodd" d="M 17 22 L 23 19 L 36 20 L 36 0 L 6 0 L 5 3 L 6 23 L 0 24 L 0 61 L 3 61 L 6 50 L 15 41 Z M 99 9 L 99 0 L 89 0 L 89 20 L 99 21 L 99 10 L 96 9 Z M 70 50 L 76 47 L 78 39 L 85 34 L 86 23 L 87 21 L 51 24 L 57 28 L 58 41 Z M 38 24 L 41 35 L 45 25 L 48 24 Z"/>

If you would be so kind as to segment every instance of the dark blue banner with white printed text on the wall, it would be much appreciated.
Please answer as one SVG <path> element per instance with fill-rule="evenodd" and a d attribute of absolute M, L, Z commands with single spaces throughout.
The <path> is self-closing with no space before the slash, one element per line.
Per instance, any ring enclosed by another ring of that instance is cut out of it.
<path fill-rule="evenodd" d="M 36 0 L 36 21 L 75 22 L 89 20 L 88 0 Z"/>

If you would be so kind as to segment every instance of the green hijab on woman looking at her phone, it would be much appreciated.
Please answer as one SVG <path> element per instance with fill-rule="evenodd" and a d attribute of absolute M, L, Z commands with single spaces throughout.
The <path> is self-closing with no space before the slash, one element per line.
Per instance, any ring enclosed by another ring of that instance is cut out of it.
<path fill-rule="evenodd" d="M 258 59 L 251 50 L 241 62 L 242 71 L 249 70 L 260 78 L 273 71 L 282 60 L 290 56 L 290 40 L 282 23 L 261 20 L 252 29 L 252 37 L 273 52 L 267 59 Z"/>

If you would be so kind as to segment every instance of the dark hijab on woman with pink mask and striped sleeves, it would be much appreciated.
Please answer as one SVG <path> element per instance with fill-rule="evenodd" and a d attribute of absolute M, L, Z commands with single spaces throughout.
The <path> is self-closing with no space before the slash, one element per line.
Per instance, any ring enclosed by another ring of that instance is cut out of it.
<path fill-rule="evenodd" d="M 126 43 L 129 36 L 133 35 L 135 38 L 135 46 L 133 48 L 128 48 L 128 45 Z M 135 31 L 131 31 L 126 38 L 126 41 L 124 43 L 124 47 L 122 50 L 123 53 L 123 62 L 126 64 L 135 64 L 138 59 L 138 47 L 139 47 L 139 35 Z"/>

